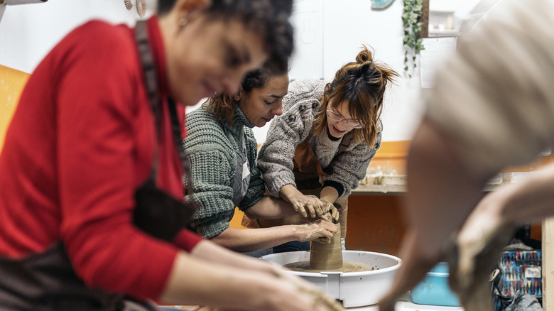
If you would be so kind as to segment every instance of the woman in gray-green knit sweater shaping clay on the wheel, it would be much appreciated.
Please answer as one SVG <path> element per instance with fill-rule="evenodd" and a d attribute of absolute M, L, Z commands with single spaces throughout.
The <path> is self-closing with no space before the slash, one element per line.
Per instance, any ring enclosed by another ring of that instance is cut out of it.
<path fill-rule="evenodd" d="M 335 224 L 322 219 L 264 229 L 229 226 L 237 206 L 252 219 L 297 214 L 288 202 L 264 196 L 252 131 L 282 113 L 287 89 L 288 75 L 257 70 L 246 76 L 238 94 L 216 94 L 186 116 L 188 136 L 183 143 L 192 173 L 192 194 L 186 200 L 192 197 L 200 204 L 190 226 L 228 249 L 257 251 L 288 241 L 325 240 L 337 232 Z"/>

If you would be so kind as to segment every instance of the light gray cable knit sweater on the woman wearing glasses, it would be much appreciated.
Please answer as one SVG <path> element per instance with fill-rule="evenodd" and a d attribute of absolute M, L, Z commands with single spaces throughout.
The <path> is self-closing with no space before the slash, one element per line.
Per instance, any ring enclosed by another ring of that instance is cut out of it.
<path fill-rule="evenodd" d="M 293 173 L 294 151 L 312 129 L 325 84 L 327 82 L 323 80 L 291 82 L 288 94 L 283 99 L 283 114 L 271 121 L 266 141 L 258 153 L 257 163 L 266 187 L 276 197 L 279 197 L 279 190 L 284 185 L 296 186 Z M 374 146 L 352 140 L 347 149 L 336 157 L 340 140 L 333 141 L 325 134 L 310 138 L 308 144 L 320 160 L 322 168 L 327 168 L 330 164 L 334 168 L 332 175 L 320 178 L 321 184 L 327 180 L 338 182 L 344 187 L 342 196 L 349 195 L 365 177 L 369 162 L 381 146 L 381 131 L 379 122 L 379 133 Z"/>

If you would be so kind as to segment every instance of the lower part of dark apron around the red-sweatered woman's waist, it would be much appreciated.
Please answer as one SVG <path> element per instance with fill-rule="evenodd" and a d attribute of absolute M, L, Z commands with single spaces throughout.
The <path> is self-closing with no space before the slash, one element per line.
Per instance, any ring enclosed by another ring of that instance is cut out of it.
<path fill-rule="evenodd" d="M 89 288 L 73 271 L 63 244 L 12 259 L 0 256 L 2 311 L 161 311 L 151 302 Z"/>

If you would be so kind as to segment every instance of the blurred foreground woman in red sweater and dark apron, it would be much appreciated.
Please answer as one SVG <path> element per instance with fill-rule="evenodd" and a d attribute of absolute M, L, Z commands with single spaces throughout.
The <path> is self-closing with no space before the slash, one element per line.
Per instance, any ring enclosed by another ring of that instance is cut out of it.
<path fill-rule="evenodd" d="M 286 70 L 290 2 L 161 0 L 136 28 L 90 21 L 50 51 L 0 155 L 0 310 L 321 308 L 309 283 L 183 229 L 184 106 Z"/>

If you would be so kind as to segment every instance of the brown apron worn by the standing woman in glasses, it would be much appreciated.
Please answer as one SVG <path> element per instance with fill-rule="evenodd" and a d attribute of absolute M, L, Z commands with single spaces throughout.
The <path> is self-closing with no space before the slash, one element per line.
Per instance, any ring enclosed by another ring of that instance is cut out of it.
<path fill-rule="evenodd" d="M 332 163 L 323 169 L 321 167 L 320 160 L 313 153 L 312 148 L 308 144 L 312 136 L 308 136 L 302 143 L 298 144 L 294 152 L 293 158 L 293 173 L 296 182 L 296 189 L 303 193 L 303 195 L 316 195 L 320 196 L 322 185 L 320 183 L 320 176 L 328 176 L 333 173 Z M 340 153 L 343 153 L 348 144 L 352 140 L 352 132 L 344 134 L 340 143 L 339 150 L 335 153 L 335 158 Z M 266 192 L 266 195 L 268 192 Z M 341 236 L 346 236 L 347 231 L 347 214 L 348 214 L 348 197 L 340 197 L 333 204 L 340 212 L 340 230 Z M 284 224 L 303 224 L 306 219 L 302 215 L 294 215 L 281 219 L 249 219 L 244 215 L 242 219 L 242 225 L 249 228 L 267 228 L 276 227 Z"/>

